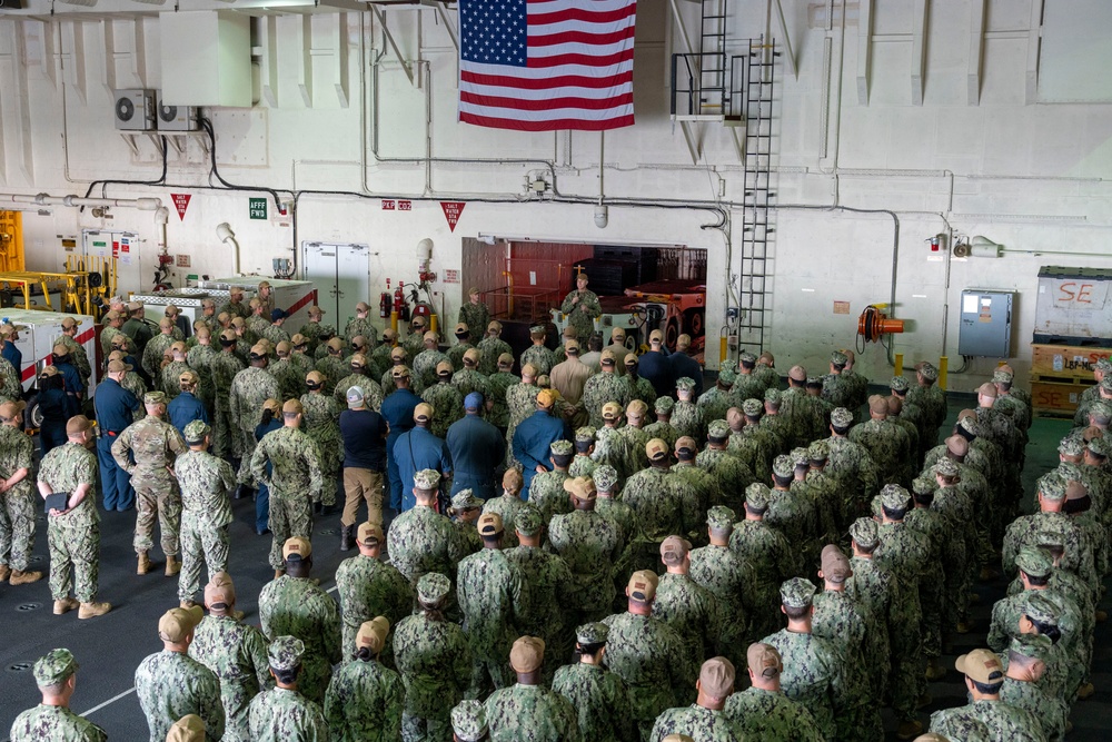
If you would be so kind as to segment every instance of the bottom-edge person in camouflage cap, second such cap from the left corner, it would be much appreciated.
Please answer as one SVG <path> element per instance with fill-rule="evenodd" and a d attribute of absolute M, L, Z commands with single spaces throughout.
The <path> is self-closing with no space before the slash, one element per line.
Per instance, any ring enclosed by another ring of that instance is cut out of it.
<path fill-rule="evenodd" d="M 259 693 L 248 711 L 251 739 L 257 742 L 327 742 L 328 723 L 320 704 L 300 692 L 305 644 L 277 636 L 267 649 L 276 687 Z"/>

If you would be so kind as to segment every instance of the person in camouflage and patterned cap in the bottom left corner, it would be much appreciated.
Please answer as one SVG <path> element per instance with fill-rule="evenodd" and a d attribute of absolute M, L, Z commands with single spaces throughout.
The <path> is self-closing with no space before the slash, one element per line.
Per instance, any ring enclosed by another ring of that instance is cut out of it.
<path fill-rule="evenodd" d="M 34 662 L 34 682 L 42 703 L 12 722 L 11 742 L 107 742 L 108 734 L 70 711 L 78 664 L 69 650 L 50 650 Z"/>

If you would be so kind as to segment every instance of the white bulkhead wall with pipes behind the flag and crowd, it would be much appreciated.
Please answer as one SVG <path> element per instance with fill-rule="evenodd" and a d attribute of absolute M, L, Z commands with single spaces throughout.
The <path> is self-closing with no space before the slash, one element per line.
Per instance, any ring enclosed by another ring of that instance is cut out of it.
<path fill-rule="evenodd" d="M 371 304 L 386 278 L 413 279 L 425 237 L 441 278 L 459 267 L 460 238 L 479 233 L 706 248 L 707 362 L 715 367 L 729 287 L 736 290 L 741 273 L 743 168 L 729 133 L 715 122 L 703 127 L 693 165 L 669 120 L 671 53 L 683 46 L 669 4 L 639 3 L 637 125 L 605 136 L 605 229 L 593 221 L 599 135 L 457 123 L 457 52 L 444 18 L 428 7 L 379 7 L 381 17 L 321 7 L 254 19 L 257 102 L 205 109 L 219 175 L 272 188 L 282 199 L 301 192 L 298 241 L 369 244 Z M 1112 33 L 1106 3 L 1080 3 L 1085 22 L 1072 23 L 1042 0 L 783 4 L 797 76 L 782 57 L 773 147 L 782 208 L 773 214 L 766 333 L 778 365 L 825 369 L 832 347 L 852 347 L 861 310 L 890 300 L 894 277 L 894 314 L 909 330 L 893 337 L 894 349 L 909 364 L 949 355 L 952 367 L 960 365 L 962 288 L 1019 291 L 1014 365 L 1024 374 L 1039 267 L 1112 267 L 1112 109 L 1100 102 L 1109 92 L 1085 82 L 1099 77 L 1092 66 L 1100 60 L 1073 52 L 1092 50 L 1083 41 L 1093 28 Z M 694 33 L 698 3 L 677 6 Z M 113 88 L 159 88 L 167 73 L 158 17 L 136 17 L 135 7 L 100 0 L 88 9 L 97 16 L 72 7 L 51 22 L 0 18 L 0 192 L 83 196 L 93 180 L 159 179 L 160 140 L 129 141 L 112 118 Z M 729 37 L 767 29 L 783 48 L 784 31 L 767 7 L 729 3 Z M 454 8 L 447 20 L 455 28 Z M 441 160 L 502 161 L 426 162 L 429 151 Z M 176 269 L 176 281 L 230 273 L 231 256 L 216 237 L 224 221 L 236 233 L 245 273 L 266 275 L 271 258 L 292 257 L 291 222 L 275 216 L 274 202 L 269 219 L 248 218 L 248 198 L 267 194 L 199 188 L 219 185 L 209 174 L 207 136 L 172 137 L 167 159 L 170 186 L 107 185 L 105 192 L 171 206 L 169 251 L 191 260 Z M 558 196 L 528 195 L 527 177 L 555 184 Z M 101 192 L 98 185 L 91 195 Z M 171 194 L 191 196 L 182 219 Z M 413 198 L 413 210 L 384 211 L 379 197 Z M 467 204 L 455 233 L 440 200 Z M 698 208 L 666 208 L 684 204 Z M 728 215 L 728 230 L 714 228 L 716 208 Z M 83 228 L 135 230 L 147 240 L 143 255 L 153 255 L 149 214 L 119 209 L 111 217 L 64 207 L 27 212 L 29 267 L 57 269 L 62 238 Z M 949 260 L 924 241 L 937 234 L 984 235 L 1005 251 Z M 436 288 L 454 319 L 466 287 Z M 835 314 L 836 301 L 847 301 L 850 314 Z M 992 365 L 979 362 L 973 373 L 951 377 L 951 388 L 975 387 Z M 874 345 L 858 368 L 877 380 L 891 375 Z"/>

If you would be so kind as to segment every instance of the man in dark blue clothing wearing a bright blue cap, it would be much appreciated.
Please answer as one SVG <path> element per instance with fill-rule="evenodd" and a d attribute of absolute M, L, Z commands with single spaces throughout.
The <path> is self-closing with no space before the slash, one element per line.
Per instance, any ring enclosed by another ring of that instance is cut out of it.
<path fill-rule="evenodd" d="M 495 492 L 498 465 L 506 457 L 506 438 L 479 416 L 483 395 L 471 392 L 464 398 L 463 419 L 448 427 L 445 443 L 451 455 L 451 494 L 470 489 L 476 497 L 490 499 Z"/>

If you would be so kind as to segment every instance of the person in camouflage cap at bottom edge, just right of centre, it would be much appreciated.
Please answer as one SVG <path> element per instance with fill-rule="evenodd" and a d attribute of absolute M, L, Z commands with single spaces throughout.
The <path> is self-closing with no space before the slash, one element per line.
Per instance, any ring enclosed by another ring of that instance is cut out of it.
<path fill-rule="evenodd" d="M 629 714 L 625 682 L 604 666 L 609 626 L 588 623 L 575 630 L 579 661 L 556 671 L 553 691 L 572 702 L 579 732 L 592 742 L 625 742 L 637 738 Z"/>

